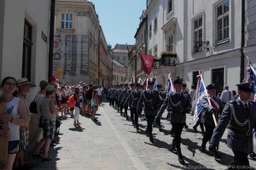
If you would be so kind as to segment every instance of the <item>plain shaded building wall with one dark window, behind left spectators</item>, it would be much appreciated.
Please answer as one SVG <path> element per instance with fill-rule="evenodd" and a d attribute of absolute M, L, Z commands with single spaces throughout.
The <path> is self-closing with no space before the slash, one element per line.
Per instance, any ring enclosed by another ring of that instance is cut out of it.
<path fill-rule="evenodd" d="M 0 1 L 0 80 L 27 77 L 28 99 L 38 92 L 41 80 L 48 80 L 50 1 Z"/>

